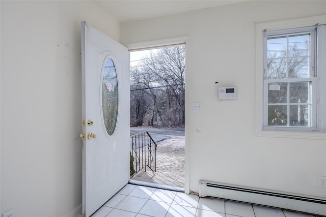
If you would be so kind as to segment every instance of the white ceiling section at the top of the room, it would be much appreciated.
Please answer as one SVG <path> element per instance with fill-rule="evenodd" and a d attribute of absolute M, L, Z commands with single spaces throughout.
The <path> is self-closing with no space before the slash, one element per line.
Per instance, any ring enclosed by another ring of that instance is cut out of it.
<path fill-rule="evenodd" d="M 242 1 L 233 0 L 93 0 L 120 23 L 211 8 Z"/>

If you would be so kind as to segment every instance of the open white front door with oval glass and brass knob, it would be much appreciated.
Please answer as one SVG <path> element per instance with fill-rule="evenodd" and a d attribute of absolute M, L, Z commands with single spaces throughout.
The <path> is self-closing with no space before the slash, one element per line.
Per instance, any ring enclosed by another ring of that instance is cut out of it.
<path fill-rule="evenodd" d="M 126 47 L 82 22 L 83 214 L 129 180 L 130 86 Z"/>

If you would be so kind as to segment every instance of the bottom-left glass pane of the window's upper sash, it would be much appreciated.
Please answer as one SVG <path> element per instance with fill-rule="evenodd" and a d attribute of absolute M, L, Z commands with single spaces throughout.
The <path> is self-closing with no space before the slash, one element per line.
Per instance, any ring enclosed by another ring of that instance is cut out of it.
<path fill-rule="evenodd" d="M 267 79 L 286 78 L 286 58 L 267 60 Z"/>

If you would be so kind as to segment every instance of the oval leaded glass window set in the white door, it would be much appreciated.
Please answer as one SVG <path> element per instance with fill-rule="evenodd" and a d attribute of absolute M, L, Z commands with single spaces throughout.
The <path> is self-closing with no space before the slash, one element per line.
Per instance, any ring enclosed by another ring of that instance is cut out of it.
<path fill-rule="evenodd" d="M 102 78 L 103 120 L 108 135 L 112 135 L 118 117 L 118 78 L 113 60 L 105 60 Z"/>

